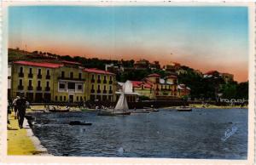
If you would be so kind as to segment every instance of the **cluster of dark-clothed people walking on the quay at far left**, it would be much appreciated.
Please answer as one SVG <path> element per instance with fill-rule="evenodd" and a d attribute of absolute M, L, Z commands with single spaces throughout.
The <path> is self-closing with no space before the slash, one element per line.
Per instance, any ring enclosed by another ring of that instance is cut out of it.
<path fill-rule="evenodd" d="M 15 120 L 18 119 L 19 127 L 23 128 L 24 117 L 26 115 L 26 106 L 29 103 L 26 101 L 26 98 L 23 96 L 17 96 L 13 101 L 8 101 L 8 115 L 7 121 L 9 123 L 9 114 L 11 111 L 15 111 Z"/>

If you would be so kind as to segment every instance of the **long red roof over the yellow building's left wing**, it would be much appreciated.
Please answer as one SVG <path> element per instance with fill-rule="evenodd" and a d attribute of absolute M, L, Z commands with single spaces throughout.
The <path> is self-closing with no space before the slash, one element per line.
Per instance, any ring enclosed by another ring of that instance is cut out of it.
<path fill-rule="evenodd" d="M 56 63 L 49 63 L 49 62 L 32 62 L 32 61 L 25 61 L 25 60 L 15 61 L 14 64 L 31 65 L 31 66 L 47 67 L 47 68 L 58 68 L 63 66 L 63 64 L 56 64 Z"/>

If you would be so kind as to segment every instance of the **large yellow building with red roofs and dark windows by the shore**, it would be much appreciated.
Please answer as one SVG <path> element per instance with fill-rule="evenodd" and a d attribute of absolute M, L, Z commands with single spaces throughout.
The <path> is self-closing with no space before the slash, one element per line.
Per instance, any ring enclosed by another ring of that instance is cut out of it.
<path fill-rule="evenodd" d="M 30 102 L 115 101 L 115 74 L 67 61 L 15 61 L 9 82 L 12 99 L 23 94 Z"/>

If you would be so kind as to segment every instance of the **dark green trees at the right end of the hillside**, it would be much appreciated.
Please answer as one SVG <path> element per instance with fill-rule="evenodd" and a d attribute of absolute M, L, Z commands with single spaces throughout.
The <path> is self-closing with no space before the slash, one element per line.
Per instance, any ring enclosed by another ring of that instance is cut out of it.
<path fill-rule="evenodd" d="M 248 99 L 248 82 L 232 81 L 225 83 L 219 75 L 205 78 L 187 66 L 183 69 L 186 72 L 178 75 L 178 83 L 184 83 L 191 88 L 190 97 L 192 100 L 195 98 L 218 100 L 220 96 L 225 99 Z"/>

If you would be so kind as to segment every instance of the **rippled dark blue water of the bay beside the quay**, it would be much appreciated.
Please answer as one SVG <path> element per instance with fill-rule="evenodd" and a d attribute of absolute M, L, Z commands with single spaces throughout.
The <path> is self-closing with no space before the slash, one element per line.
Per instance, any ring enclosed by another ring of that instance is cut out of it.
<path fill-rule="evenodd" d="M 34 134 L 55 156 L 247 159 L 247 109 L 160 110 L 126 117 L 35 113 Z M 70 126 L 70 121 L 92 122 Z M 236 128 L 226 139 L 225 131 Z"/>

